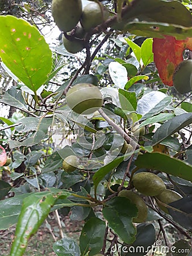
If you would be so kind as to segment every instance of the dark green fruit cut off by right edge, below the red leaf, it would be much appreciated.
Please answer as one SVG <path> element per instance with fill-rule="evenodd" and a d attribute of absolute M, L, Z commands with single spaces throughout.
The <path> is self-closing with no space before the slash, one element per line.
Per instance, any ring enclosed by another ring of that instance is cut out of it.
<path fill-rule="evenodd" d="M 183 60 L 173 74 L 173 85 L 180 93 L 191 91 L 192 60 Z"/>

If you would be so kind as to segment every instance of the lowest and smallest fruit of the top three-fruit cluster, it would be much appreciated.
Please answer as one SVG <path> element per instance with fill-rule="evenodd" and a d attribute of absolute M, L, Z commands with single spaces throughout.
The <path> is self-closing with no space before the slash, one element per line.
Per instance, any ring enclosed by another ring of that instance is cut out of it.
<path fill-rule="evenodd" d="M 65 38 L 65 36 L 62 36 L 62 43 L 64 44 L 66 51 L 73 54 L 77 52 L 81 52 L 82 49 L 84 49 L 84 42 L 82 42 L 81 40 L 77 40 L 77 39 L 68 40 Z"/>

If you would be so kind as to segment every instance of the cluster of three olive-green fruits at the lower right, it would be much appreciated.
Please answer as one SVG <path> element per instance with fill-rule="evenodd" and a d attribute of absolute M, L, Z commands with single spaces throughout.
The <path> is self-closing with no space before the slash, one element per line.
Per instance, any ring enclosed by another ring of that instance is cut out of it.
<path fill-rule="evenodd" d="M 139 172 L 133 175 L 132 178 L 133 187 L 138 192 L 145 196 L 154 196 L 158 207 L 165 213 L 169 214 L 166 205 L 173 203 L 174 201 L 180 200 L 182 196 L 175 191 L 166 189 L 162 179 L 151 172 Z M 144 200 L 137 195 L 137 193 L 122 190 L 118 193 L 118 196 L 127 197 L 138 209 L 136 218 L 133 218 L 133 222 L 141 223 L 147 219 L 147 205 Z"/>

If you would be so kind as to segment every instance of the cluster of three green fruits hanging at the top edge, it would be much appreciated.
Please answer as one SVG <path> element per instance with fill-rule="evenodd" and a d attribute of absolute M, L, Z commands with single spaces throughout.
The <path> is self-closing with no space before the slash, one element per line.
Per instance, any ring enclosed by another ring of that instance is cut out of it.
<path fill-rule="evenodd" d="M 66 33 L 62 42 L 68 52 L 77 53 L 85 47 L 84 36 L 108 18 L 102 3 L 91 2 L 82 9 L 81 0 L 53 0 L 52 16 L 59 29 Z"/>

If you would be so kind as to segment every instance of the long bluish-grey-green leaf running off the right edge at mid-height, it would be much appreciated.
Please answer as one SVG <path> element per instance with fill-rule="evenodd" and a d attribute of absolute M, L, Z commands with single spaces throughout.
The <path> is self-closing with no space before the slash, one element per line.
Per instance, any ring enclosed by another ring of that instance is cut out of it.
<path fill-rule="evenodd" d="M 177 115 L 161 125 L 153 135 L 153 145 L 160 143 L 169 135 L 176 133 L 192 122 L 192 113 Z"/>

